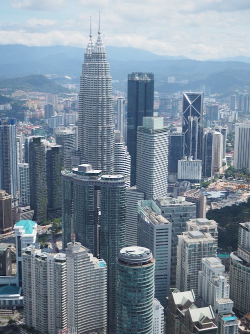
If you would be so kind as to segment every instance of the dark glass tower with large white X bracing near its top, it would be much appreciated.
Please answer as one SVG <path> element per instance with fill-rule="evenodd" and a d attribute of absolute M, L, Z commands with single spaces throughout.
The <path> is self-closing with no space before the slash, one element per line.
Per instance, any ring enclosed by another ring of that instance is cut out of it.
<path fill-rule="evenodd" d="M 192 124 L 192 117 L 194 117 Z M 196 118 L 195 118 L 196 117 Z M 183 93 L 182 132 L 185 136 L 184 154 L 190 155 L 191 137 L 196 138 L 196 151 L 194 159 L 202 158 L 202 120 L 203 120 L 203 93 Z M 195 125 L 195 126 L 194 126 Z M 195 131 L 197 133 L 195 133 Z"/>

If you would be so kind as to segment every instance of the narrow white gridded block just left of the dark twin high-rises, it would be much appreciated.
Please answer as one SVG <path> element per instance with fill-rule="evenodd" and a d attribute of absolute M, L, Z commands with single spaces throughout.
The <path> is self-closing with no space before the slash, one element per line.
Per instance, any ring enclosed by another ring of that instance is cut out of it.
<path fill-rule="evenodd" d="M 29 205 L 29 165 L 19 163 L 18 168 L 18 203 L 20 205 Z"/>

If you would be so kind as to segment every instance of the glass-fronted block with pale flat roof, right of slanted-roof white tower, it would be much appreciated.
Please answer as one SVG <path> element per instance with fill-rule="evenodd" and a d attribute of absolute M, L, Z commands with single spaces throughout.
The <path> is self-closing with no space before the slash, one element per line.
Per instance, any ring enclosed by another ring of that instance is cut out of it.
<path fill-rule="evenodd" d="M 193 203 L 186 201 L 185 197 L 178 197 L 177 199 L 162 197 L 157 198 L 155 203 L 160 208 L 161 215 L 172 224 L 170 285 L 174 287 L 176 286 L 177 235 L 186 231 L 186 221 L 195 218 L 196 207 Z"/>

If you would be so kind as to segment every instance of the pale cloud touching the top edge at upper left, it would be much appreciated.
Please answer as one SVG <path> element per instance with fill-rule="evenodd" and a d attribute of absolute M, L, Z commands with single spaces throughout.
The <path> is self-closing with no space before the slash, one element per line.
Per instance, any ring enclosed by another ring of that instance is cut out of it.
<path fill-rule="evenodd" d="M 12 0 L 10 5 L 15 9 L 28 11 L 54 11 L 59 10 L 65 0 Z"/>

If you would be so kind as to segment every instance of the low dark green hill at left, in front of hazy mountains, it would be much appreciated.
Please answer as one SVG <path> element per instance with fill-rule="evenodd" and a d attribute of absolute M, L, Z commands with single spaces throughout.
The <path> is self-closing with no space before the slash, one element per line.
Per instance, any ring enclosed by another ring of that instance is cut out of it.
<path fill-rule="evenodd" d="M 0 80 L 0 88 L 24 91 L 38 91 L 45 93 L 69 92 L 68 89 L 54 83 L 40 74 L 32 74 L 26 77 Z"/>

